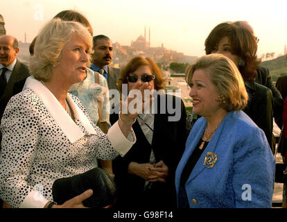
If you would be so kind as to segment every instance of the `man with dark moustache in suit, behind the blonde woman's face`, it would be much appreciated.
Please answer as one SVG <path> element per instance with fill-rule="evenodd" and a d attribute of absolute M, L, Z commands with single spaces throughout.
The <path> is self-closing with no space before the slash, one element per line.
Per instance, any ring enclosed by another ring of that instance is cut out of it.
<path fill-rule="evenodd" d="M 94 53 L 92 55 L 91 69 L 105 76 L 109 89 L 118 89 L 116 81 L 119 78 L 120 69 L 110 66 L 113 56 L 112 42 L 105 35 L 93 37 Z"/>

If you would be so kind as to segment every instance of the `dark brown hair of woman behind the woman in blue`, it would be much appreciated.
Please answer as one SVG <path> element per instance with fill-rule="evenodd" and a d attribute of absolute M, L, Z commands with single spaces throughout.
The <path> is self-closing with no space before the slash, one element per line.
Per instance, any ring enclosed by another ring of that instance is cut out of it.
<path fill-rule="evenodd" d="M 252 33 L 246 28 L 236 26 L 232 22 L 218 24 L 205 40 L 205 53 L 208 55 L 212 51 L 217 51 L 218 42 L 223 37 L 229 38 L 232 54 L 243 61 L 238 66 L 243 80 L 254 80 L 257 74 L 256 69 L 258 69 L 261 61 L 256 56 L 257 42 Z"/>

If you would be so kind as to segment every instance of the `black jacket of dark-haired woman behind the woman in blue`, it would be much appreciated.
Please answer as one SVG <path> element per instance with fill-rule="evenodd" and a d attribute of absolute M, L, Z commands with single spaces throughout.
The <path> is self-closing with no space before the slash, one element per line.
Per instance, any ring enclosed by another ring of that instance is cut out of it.
<path fill-rule="evenodd" d="M 247 107 L 243 110 L 259 128 L 261 128 L 268 140 L 269 146 L 274 152 L 275 144 L 272 142 L 273 132 L 273 97 L 267 87 L 254 82 L 245 82 L 249 99 Z"/>

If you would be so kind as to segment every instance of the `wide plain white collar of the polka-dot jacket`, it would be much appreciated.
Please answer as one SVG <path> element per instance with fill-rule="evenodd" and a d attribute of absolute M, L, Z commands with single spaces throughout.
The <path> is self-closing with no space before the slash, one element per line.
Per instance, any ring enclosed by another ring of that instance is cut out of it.
<path fill-rule="evenodd" d="M 69 117 L 69 114 L 64 110 L 58 99 L 56 99 L 51 91 L 40 83 L 40 81 L 33 78 L 27 78 L 26 84 L 27 88 L 32 89 L 40 98 L 42 103 L 44 103 L 46 109 L 51 114 L 51 117 L 55 120 L 58 126 L 60 126 L 72 144 L 85 135 L 82 133 L 82 130 L 80 130 L 80 127 L 71 119 L 71 117 Z M 89 122 L 89 119 L 87 119 L 82 110 L 78 108 L 78 105 L 74 103 L 69 94 L 67 94 L 67 101 L 73 110 L 75 118 L 80 120 L 82 126 L 87 130 L 87 132 L 89 134 L 96 134 L 96 130 Z"/>

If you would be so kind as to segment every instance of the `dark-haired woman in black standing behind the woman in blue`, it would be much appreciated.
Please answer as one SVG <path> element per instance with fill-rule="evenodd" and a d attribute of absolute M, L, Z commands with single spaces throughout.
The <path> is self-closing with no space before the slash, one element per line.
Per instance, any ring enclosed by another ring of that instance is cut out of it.
<path fill-rule="evenodd" d="M 267 87 L 254 82 L 260 61 L 256 56 L 257 42 L 250 31 L 232 22 L 218 24 L 205 40 L 205 52 L 220 53 L 230 58 L 243 77 L 249 100 L 243 110 L 261 128 L 272 149 L 273 97 Z"/>

